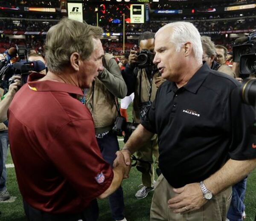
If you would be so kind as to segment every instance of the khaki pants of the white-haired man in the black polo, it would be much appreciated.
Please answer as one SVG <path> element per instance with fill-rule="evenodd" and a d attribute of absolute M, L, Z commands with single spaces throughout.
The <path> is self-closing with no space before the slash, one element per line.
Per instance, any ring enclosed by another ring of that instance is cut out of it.
<path fill-rule="evenodd" d="M 232 188 L 213 196 L 199 210 L 184 214 L 174 213 L 167 201 L 177 195 L 163 174 L 157 179 L 151 203 L 150 221 L 226 221 L 227 211 L 232 198 Z"/>

